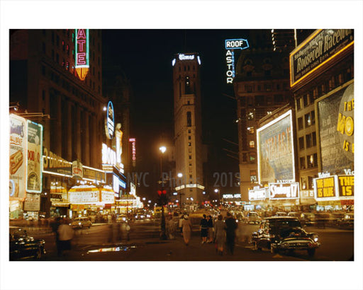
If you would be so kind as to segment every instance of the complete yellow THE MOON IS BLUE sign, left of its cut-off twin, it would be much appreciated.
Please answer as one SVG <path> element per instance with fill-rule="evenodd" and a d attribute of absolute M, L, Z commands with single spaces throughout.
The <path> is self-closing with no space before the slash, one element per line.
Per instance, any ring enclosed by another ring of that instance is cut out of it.
<path fill-rule="evenodd" d="M 314 194 L 317 201 L 337 199 L 337 175 L 314 178 Z"/>

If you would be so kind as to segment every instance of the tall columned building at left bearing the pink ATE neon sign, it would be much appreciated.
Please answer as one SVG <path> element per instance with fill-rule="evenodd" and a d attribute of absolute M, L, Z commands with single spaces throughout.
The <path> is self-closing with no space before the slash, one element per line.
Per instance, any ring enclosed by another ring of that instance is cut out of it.
<path fill-rule="evenodd" d="M 40 211 L 47 216 L 77 211 L 68 195 L 74 161 L 82 178 L 105 179 L 101 54 L 101 30 L 11 30 L 10 102 L 17 115 L 43 125 Z"/>

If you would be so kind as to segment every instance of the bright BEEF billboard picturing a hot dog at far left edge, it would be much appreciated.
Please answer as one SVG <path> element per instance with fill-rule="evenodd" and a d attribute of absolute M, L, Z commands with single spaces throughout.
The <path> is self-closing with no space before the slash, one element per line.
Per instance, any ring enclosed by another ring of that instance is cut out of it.
<path fill-rule="evenodd" d="M 26 198 L 27 122 L 14 114 L 10 114 L 9 120 L 9 197 L 23 201 Z"/>

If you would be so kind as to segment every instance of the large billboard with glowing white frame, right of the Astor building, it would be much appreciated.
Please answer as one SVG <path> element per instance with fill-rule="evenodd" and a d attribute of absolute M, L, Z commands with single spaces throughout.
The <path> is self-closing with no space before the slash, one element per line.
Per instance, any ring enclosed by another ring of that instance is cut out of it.
<path fill-rule="evenodd" d="M 294 182 L 292 111 L 257 129 L 259 183 Z"/>

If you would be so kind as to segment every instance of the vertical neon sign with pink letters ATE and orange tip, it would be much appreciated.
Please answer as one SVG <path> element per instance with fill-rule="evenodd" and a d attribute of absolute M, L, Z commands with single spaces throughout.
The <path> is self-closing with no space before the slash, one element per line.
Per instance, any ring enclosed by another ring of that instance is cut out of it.
<path fill-rule="evenodd" d="M 89 71 L 89 30 L 75 29 L 75 68 L 79 79 L 86 78 Z"/>

